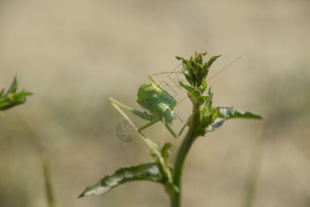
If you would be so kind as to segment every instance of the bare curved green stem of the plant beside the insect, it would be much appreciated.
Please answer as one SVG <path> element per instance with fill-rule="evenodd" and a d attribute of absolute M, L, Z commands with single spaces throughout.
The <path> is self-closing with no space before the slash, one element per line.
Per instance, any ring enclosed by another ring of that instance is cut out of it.
<path fill-rule="evenodd" d="M 189 126 L 189 130 L 185 135 L 180 148 L 178 148 L 178 152 L 176 154 L 176 161 L 174 164 L 174 176 L 173 182 L 176 187 L 178 187 L 179 192 L 172 192 L 169 194 L 171 206 L 172 207 L 180 207 L 181 206 L 181 193 L 182 193 L 182 175 L 183 175 L 183 166 L 185 162 L 185 158 L 192 144 L 198 137 L 198 130 L 200 128 L 200 104 L 193 103 L 193 117 L 192 124 Z"/>

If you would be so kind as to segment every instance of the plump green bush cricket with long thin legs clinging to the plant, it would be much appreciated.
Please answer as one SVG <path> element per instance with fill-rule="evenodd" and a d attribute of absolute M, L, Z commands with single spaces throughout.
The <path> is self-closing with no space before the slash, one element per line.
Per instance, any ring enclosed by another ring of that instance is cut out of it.
<path fill-rule="evenodd" d="M 116 105 L 120 108 L 123 108 L 124 110 L 132 112 L 134 115 L 141 117 L 142 119 L 149 121 L 149 123 L 147 123 L 145 126 L 141 126 L 141 128 L 138 128 L 138 132 L 141 132 L 141 130 L 144 130 L 149 126 L 156 124 L 156 122 L 158 121 L 162 121 L 167 130 L 169 130 L 169 132 L 172 134 L 172 136 L 178 138 L 185 129 L 185 126 L 187 126 L 187 123 L 185 124 L 185 126 L 183 126 L 180 132 L 178 132 L 178 134 L 176 134 L 176 132 L 172 130 L 172 122 L 174 121 L 174 119 L 176 119 L 176 117 L 178 117 L 174 114 L 174 108 L 177 104 L 176 100 L 153 77 L 153 75 L 160 75 L 165 73 L 171 72 L 161 72 L 149 75 L 149 79 L 152 82 L 142 84 L 138 90 L 136 101 L 143 108 L 148 110 L 150 114 L 125 106 L 123 103 L 120 103 L 111 97 L 109 98 L 109 102 L 114 106 Z"/>

